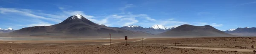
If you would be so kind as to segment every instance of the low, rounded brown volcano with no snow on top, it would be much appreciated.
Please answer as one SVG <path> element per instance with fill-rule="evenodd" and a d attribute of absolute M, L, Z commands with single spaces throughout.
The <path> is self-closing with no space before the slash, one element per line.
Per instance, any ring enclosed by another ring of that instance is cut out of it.
<path fill-rule="evenodd" d="M 210 25 L 205 26 L 193 26 L 189 24 L 184 24 L 179 27 L 176 27 L 167 32 L 158 34 L 157 36 L 213 36 L 213 37 L 227 37 L 227 36 L 236 36 L 230 35 L 220 30 L 215 29 Z"/>

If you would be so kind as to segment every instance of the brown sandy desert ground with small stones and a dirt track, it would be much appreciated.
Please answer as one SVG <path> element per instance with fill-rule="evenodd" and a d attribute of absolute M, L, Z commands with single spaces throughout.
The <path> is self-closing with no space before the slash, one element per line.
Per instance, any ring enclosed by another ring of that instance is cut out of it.
<path fill-rule="evenodd" d="M 0 41 L 0 54 L 255 54 L 256 37 Z M 176 44 L 175 44 L 176 43 Z M 241 46 L 241 47 L 235 47 Z"/>

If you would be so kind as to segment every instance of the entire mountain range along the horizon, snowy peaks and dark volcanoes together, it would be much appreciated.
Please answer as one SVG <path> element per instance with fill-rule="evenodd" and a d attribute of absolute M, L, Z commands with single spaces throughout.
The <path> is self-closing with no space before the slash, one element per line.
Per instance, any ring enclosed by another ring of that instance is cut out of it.
<path fill-rule="evenodd" d="M 209 25 L 193 26 L 189 24 L 169 28 L 158 24 L 148 28 L 137 25 L 119 28 L 96 24 L 77 14 L 51 26 L 25 27 L 20 30 L 8 28 L 6 30 L 1 29 L 0 32 L 9 32 L 8 35 L 30 36 L 105 36 L 110 33 L 113 34 L 112 36 L 253 36 L 256 33 L 256 28 L 245 27 L 220 31 Z"/>

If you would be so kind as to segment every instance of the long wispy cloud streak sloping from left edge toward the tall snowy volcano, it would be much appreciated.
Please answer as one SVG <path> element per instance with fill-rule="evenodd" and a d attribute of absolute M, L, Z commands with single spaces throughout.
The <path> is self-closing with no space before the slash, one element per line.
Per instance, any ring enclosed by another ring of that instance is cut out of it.
<path fill-rule="evenodd" d="M 30 11 L 28 9 L 0 8 L 0 11 L 1 11 L 0 13 L 2 13 L 2 14 L 7 14 L 7 13 L 19 14 L 19 15 L 29 16 L 29 17 L 33 17 L 33 18 L 46 19 L 46 20 L 49 20 L 52 22 L 62 22 L 62 20 L 60 20 L 60 19 L 47 18 L 44 16 L 38 16 L 38 15 L 32 14 L 32 13 L 30 13 L 32 11 Z"/>

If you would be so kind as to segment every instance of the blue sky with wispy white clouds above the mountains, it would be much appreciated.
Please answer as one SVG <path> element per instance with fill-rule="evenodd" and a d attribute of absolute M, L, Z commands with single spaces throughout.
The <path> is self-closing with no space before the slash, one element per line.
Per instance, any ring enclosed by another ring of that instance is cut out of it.
<path fill-rule="evenodd" d="M 256 27 L 256 0 L 0 0 L 0 28 L 53 25 L 81 14 L 110 27 Z"/>

